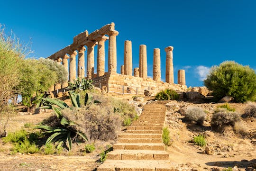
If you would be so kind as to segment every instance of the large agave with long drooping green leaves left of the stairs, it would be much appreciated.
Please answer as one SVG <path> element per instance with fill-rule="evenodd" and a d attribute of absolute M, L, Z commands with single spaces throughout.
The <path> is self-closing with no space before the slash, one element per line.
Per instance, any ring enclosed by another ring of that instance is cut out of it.
<path fill-rule="evenodd" d="M 73 107 L 81 108 L 80 94 L 76 94 L 73 91 L 69 91 L 69 96 L 71 98 Z M 87 93 L 86 96 L 89 97 Z M 89 98 L 85 100 L 85 105 L 88 103 L 88 99 Z M 43 100 L 48 102 L 50 105 L 42 108 L 52 108 L 56 114 L 56 117 L 60 120 L 60 125 L 58 127 L 50 127 L 46 125 L 34 126 L 34 128 L 46 130 L 43 133 L 52 133 L 52 135 L 49 136 L 49 138 L 46 140 L 46 144 L 58 142 L 58 146 L 62 146 L 64 142 L 67 142 L 68 149 L 71 150 L 72 136 L 76 137 L 77 135 L 79 135 L 80 137 L 82 137 L 82 139 L 88 141 L 86 135 L 84 135 L 82 132 L 78 132 L 75 129 L 73 129 L 72 126 L 74 126 L 75 123 L 63 116 L 62 109 L 70 108 L 72 110 L 71 107 L 69 107 L 64 101 L 59 99 L 45 98 Z"/>

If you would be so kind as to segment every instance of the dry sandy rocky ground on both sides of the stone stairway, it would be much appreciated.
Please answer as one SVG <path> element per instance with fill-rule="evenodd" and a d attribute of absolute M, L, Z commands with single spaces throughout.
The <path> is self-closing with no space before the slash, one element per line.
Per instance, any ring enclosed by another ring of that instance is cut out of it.
<path fill-rule="evenodd" d="M 137 112 L 141 112 L 144 104 L 152 98 L 133 101 Z M 248 127 L 247 135 L 240 135 L 230 126 L 222 133 L 211 129 L 210 117 L 220 104 L 203 103 L 202 101 L 170 101 L 165 125 L 170 128 L 171 144 L 166 147 L 170 153 L 170 161 L 176 171 L 222 171 L 228 167 L 233 171 L 255 171 L 256 168 L 256 119 L 245 118 L 243 123 Z M 184 120 L 183 110 L 189 106 L 204 109 L 207 119 L 203 126 Z M 232 108 L 243 113 L 247 104 L 231 103 Z M 28 115 L 19 113 L 12 116 L 9 131 L 15 131 L 25 123 L 36 124 L 51 113 Z M 199 147 L 190 143 L 194 136 L 206 136 L 207 147 Z M 111 143 L 112 144 L 112 143 Z M 68 155 L 15 154 L 9 155 L 9 148 L 0 142 L 0 171 L 91 171 L 100 165 L 98 152 L 81 156 Z M 207 154 L 208 153 L 208 154 Z"/>

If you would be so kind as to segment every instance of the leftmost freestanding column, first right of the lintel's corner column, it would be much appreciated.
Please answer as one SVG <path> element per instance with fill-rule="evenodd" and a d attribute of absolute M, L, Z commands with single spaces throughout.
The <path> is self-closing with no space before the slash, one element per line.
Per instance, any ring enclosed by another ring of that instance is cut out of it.
<path fill-rule="evenodd" d="M 124 74 L 132 75 L 132 46 L 131 41 L 125 41 L 124 47 Z"/>

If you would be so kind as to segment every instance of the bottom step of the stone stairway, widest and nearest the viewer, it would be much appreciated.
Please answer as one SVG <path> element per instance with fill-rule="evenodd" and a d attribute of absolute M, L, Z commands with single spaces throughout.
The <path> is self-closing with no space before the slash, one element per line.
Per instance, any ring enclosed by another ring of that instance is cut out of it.
<path fill-rule="evenodd" d="M 165 160 L 106 160 L 97 171 L 174 171 Z"/>

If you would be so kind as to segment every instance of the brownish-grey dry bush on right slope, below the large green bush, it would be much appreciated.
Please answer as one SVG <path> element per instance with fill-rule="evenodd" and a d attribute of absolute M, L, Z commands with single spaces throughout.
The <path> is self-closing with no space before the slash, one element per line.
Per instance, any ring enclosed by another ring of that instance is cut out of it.
<path fill-rule="evenodd" d="M 240 114 L 237 112 L 228 111 L 226 108 L 219 108 L 216 110 L 211 118 L 211 126 L 234 126 L 237 121 L 240 120 Z"/>

